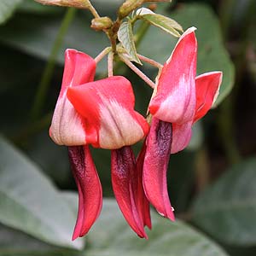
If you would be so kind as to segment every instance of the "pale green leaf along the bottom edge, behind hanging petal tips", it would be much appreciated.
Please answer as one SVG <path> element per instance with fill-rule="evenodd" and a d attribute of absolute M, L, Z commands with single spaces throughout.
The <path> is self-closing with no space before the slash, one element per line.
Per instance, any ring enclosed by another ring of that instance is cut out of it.
<path fill-rule="evenodd" d="M 61 193 L 73 212 L 77 212 L 78 195 L 73 192 Z M 171 223 L 152 212 L 153 230 L 148 241 L 138 238 L 119 212 L 114 200 L 103 201 L 102 214 L 96 221 L 84 252 L 68 251 L 37 241 L 19 231 L 0 226 L 0 256 L 226 256 L 227 254 L 199 232 L 181 221 Z M 15 241 L 15 243 L 14 243 Z"/>

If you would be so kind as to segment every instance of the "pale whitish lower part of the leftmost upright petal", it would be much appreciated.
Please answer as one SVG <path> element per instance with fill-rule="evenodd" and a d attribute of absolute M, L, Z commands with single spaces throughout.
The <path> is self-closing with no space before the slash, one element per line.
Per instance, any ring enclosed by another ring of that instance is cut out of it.
<path fill-rule="evenodd" d="M 67 100 L 66 93 L 58 99 L 52 118 L 49 136 L 59 145 L 85 144 L 85 131 L 79 113 Z"/>

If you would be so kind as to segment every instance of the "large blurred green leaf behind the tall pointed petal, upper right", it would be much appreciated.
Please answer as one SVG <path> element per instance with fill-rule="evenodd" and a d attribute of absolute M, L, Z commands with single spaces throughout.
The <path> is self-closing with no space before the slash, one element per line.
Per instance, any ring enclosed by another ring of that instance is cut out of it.
<path fill-rule="evenodd" d="M 170 14 L 163 13 L 163 15 Z M 184 30 L 190 26 L 197 27 L 195 31 L 198 40 L 197 73 L 223 71 L 223 82 L 217 102 L 215 102 L 215 106 L 217 106 L 229 95 L 235 79 L 233 63 L 224 48 L 217 17 L 207 5 L 198 3 L 183 4 L 171 15 L 174 20 L 177 20 L 183 26 Z M 176 42 L 177 40 L 174 38 L 151 26 L 143 38 L 138 52 L 153 58 L 155 61 L 164 63 L 171 55 Z M 153 46 L 154 50 L 152 50 Z"/>

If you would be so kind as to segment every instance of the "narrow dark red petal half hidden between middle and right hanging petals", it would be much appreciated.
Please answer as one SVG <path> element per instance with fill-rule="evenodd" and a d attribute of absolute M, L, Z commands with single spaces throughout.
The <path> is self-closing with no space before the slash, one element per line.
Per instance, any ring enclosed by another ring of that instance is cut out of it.
<path fill-rule="evenodd" d="M 148 198 L 146 197 L 143 189 L 143 164 L 146 153 L 146 143 L 143 143 L 143 148 L 137 156 L 136 165 L 137 165 L 137 206 L 138 212 L 141 214 L 143 219 L 143 225 L 148 226 L 148 229 L 151 230 L 151 218 L 150 218 L 150 208 Z"/>

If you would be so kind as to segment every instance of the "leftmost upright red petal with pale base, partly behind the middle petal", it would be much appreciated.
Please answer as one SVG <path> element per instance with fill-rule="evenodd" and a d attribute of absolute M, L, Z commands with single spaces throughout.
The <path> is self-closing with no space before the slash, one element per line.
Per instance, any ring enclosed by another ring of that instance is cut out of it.
<path fill-rule="evenodd" d="M 67 49 L 61 92 L 55 106 L 49 136 L 59 145 L 85 144 L 84 120 L 67 100 L 67 88 L 94 79 L 96 62 L 89 55 L 75 49 Z"/>

